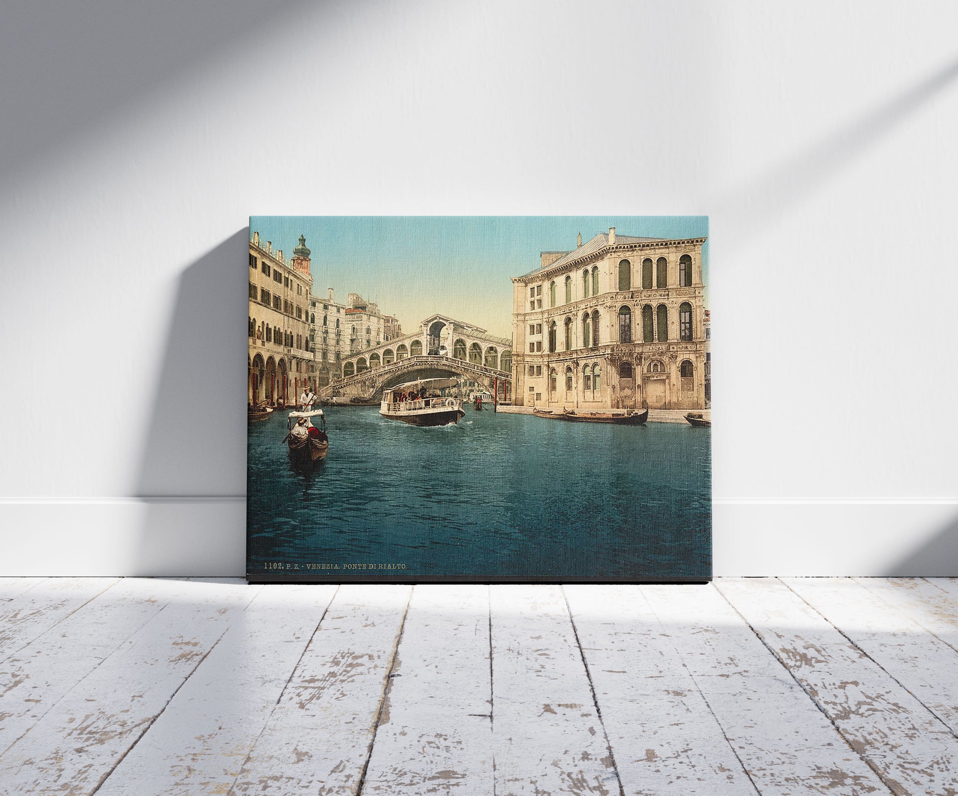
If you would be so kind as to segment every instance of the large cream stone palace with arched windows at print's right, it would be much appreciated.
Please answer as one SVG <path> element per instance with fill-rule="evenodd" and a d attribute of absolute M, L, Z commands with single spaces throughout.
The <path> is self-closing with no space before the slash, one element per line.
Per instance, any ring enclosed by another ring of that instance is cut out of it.
<path fill-rule="evenodd" d="M 513 402 L 705 408 L 704 238 L 599 233 L 513 278 Z"/>

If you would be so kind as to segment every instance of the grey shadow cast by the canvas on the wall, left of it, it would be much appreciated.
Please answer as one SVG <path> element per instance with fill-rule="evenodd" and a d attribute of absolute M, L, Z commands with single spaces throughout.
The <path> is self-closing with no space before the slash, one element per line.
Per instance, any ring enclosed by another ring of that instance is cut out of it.
<path fill-rule="evenodd" d="M 138 574 L 244 571 L 248 239 L 239 230 L 179 278 L 136 481 Z"/>

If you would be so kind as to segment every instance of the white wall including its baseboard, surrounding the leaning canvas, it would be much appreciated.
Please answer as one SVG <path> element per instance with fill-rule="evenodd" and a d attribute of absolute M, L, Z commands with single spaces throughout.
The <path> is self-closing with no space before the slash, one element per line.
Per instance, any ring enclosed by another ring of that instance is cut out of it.
<path fill-rule="evenodd" d="M 956 28 L 8 5 L 0 574 L 242 572 L 248 215 L 627 213 L 712 217 L 716 573 L 958 575 Z"/>

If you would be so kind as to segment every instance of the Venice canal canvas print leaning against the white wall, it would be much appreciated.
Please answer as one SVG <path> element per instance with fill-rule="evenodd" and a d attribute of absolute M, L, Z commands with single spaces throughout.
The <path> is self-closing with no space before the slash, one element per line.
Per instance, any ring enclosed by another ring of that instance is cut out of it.
<path fill-rule="evenodd" d="M 712 574 L 708 219 L 252 216 L 247 579 Z"/>

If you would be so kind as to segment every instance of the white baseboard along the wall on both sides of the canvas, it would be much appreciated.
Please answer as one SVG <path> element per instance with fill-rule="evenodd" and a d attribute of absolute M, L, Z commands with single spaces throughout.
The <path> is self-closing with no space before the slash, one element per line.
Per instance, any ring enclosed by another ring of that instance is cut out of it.
<path fill-rule="evenodd" d="M 0 576 L 242 576 L 242 497 L 0 499 Z M 716 576 L 958 576 L 958 501 L 719 499 Z"/>

